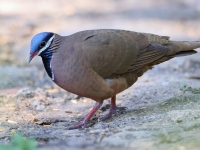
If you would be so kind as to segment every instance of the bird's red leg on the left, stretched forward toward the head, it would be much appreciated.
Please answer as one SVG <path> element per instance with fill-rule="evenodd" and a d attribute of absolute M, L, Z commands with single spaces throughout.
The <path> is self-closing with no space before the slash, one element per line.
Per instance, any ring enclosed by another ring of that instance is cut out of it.
<path fill-rule="evenodd" d="M 94 105 L 94 107 L 92 108 L 92 110 L 89 112 L 89 114 L 85 117 L 85 119 L 83 120 L 82 123 L 74 125 L 69 127 L 69 129 L 78 129 L 81 127 L 86 127 L 87 126 L 87 122 L 90 120 L 90 118 L 96 113 L 96 111 L 101 107 L 102 103 L 96 102 L 96 104 Z"/>

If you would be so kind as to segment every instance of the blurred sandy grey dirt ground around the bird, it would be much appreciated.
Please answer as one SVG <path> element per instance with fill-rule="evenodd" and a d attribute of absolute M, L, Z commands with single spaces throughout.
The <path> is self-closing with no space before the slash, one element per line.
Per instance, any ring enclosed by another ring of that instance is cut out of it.
<path fill-rule="evenodd" d="M 0 144 L 20 132 L 39 150 L 199 149 L 200 95 L 180 87 L 200 88 L 200 54 L 155 66 L 117 96 L 125 111 L 100 121 L 106 100 L 89 127 L 76 130 L 68 127 L 95 102 L 56 86 L 41 58 L 27 63 L 30 40 L 41 31 L 112 28 L 200 40 L 198 0 L 0 0 L 0 22 Z"/>

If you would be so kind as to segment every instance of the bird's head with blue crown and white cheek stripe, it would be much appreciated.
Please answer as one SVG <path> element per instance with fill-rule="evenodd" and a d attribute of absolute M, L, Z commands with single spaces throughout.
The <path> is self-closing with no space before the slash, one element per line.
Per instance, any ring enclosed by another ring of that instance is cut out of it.
<path fill-rule="evenodd" d="M 54 33 L 41 32 L 36 34 L 31 40 L 29 63 L 36 56 L 47 50 L 54 38 Z"/>

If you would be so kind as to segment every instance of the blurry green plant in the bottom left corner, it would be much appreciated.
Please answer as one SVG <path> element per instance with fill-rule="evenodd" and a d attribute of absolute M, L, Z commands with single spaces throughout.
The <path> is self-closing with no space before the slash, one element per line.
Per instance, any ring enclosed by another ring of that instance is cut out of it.
<path fill-rule="evenodd" d="M 36 142 L 18 133 L 11 137 L 9 145 L 0 145 L 0 150 L 36 150 Z"/>

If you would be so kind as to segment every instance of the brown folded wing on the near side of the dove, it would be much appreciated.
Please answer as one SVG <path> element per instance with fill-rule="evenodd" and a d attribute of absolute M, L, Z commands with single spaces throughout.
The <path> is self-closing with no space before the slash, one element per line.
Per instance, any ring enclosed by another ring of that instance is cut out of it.
<path fill-rule="evenodd" d="M 89 30 L 78 33 L 92 69 L 104 78 L 124 74 L 160 59 L 169 37 L 123 30 Z M 151 44 L 158 43 L 158 44 Z M 78 48 L 77 47 L 77 48 Z"/>

